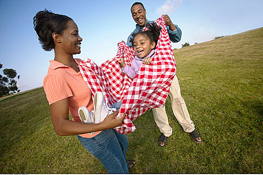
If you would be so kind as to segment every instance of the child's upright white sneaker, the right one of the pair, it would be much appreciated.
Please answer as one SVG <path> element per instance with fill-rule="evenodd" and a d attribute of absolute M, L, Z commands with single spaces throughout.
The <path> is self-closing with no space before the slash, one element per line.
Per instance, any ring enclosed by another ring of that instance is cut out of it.
<path fill-rule="evenodd" d="M 94 123 L 102 122 L 111 113 L 112 111 L 108 109 L 107 101 L 104 101 L 103 93 L 97 91 L 94 96 Z"/>

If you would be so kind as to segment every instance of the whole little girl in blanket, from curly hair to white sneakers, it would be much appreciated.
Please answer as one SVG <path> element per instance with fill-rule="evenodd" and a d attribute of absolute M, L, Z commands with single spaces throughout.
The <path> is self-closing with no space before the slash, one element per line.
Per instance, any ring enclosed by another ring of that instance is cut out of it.
<path fill-rule="evenodd" d="M 154 22 L 152 24 L 148 23 L 146 26 L 149 30 L 140 30 L 138 33 L 132 34 L 134 39 L 131 38 L 131 43 L 133 43 L 137 55 L 133 61 L 131 61 L 131 66 L 126 65 L 123 58 L 118 60 L 123 68 L 122 72 L 126 73 L 131 78 L 135 78 L 142 63 L 150 64 L 152 62 L 152 56 L 155 53 L 155 47 L 160 35 L 161 27 Z M 121 103 L 122 101 L 118 101 L 113 104 L 113 107 L 108 107 L 107 101 L 104 101 L 102 92 L 96 92 L 94 96 L 94 110 L 90 111 L 87 107 L 81 106 L 78 109 L 80 119 L 84 123 L 101 122 L 107 114 L 118 109 L 121 106 Z"/>

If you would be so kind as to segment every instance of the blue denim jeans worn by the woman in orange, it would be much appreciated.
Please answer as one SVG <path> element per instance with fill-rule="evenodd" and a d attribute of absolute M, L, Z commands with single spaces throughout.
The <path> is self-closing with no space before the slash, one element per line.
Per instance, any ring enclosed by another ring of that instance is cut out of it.
<path fill-rule="evenodd" d="M 126 150 L 128 139 L 113 128 L 103 130 L 92 138 L 77 135 L 81 144 L 97 157 L 108 173 L 128 173 Z"/>

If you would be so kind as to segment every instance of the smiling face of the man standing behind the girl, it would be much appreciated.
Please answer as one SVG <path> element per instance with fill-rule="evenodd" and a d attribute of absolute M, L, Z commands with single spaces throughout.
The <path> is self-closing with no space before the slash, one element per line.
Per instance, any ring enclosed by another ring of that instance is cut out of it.
<path fill-rule="evenodd" d="M 138 25 L 145 27 L 146 25 L 146 9 L 141 4 L 136 4 L 131 8 L 131 15 Z"/>

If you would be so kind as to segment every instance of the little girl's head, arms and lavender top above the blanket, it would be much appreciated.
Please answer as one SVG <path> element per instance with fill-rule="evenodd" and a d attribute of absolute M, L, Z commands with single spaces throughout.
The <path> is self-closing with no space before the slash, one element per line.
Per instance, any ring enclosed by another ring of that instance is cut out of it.
<path fill-rule="evenodd" d="M 131 78 L 135 78 L 142 63 L 150 64 L 152 62 L 152 56 L 155 53 L 155 47 L 160 35 L 161 27 L 158 27 L 156 23 L 147 23 L 146 27 L 149 30 L 140 30 L 136 34 L 132 34 L 131 43 L 133 44 L 136 56 L 131 61 L 131 66 L 128 66 L 123 58 L 120 58 L 118 62 L 122 66 L 122 72 L 127 74 Z"/>

